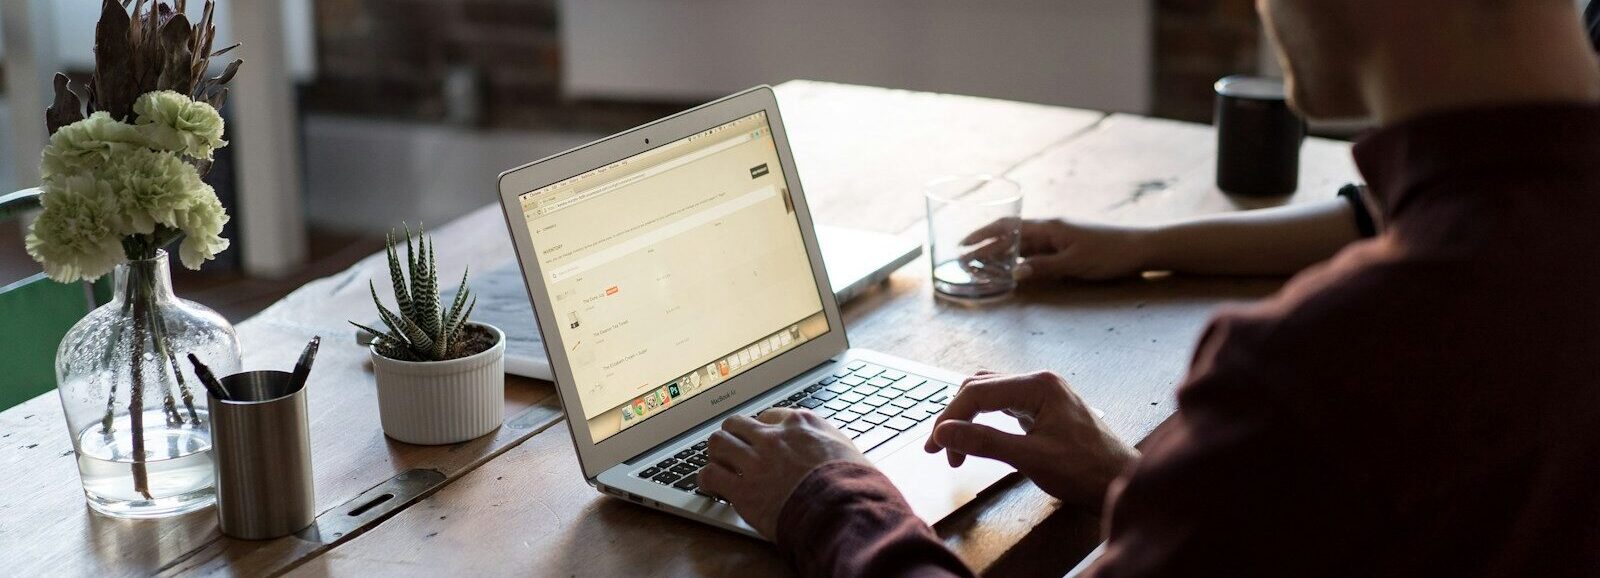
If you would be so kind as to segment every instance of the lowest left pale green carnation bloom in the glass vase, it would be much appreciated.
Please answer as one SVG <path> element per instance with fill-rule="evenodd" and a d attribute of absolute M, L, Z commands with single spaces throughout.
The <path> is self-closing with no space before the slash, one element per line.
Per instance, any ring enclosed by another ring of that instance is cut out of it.
<path fill-rule="evenodd" d="M 27 232 L 27 255 L 62 283 L 99 279 L 126 256 L 110 184 L 88 175 L 45 183 L 45 211 Z"/>

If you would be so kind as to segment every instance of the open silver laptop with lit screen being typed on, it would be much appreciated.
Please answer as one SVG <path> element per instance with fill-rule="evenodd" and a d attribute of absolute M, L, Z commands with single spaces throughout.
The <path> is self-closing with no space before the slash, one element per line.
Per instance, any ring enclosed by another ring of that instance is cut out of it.
<path fill-rule="evenodd" d="M 960 375 L 850 347 L 771 88 L 514 168 L 499 194 L 600 492 L 755 535 L 698 472 L 725 418 L 770 407 L 826 416 L 930 524 L 1011 472 L 922 450 Z"/>

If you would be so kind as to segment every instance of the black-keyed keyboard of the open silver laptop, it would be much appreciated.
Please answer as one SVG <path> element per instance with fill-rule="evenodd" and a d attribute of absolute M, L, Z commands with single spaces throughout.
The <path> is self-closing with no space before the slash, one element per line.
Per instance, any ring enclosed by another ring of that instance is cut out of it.
<path fill-rule="evenodd" d="M 947 383 L 851 362 L 773 407 L 810 410 L 850 436 L 856 450 L 867 453 L 944 411 L 950 392 Z M 715 500 L 699 488 L 699 471 L 707 463 L 706 440 L 698 440 L 634 476 Z"/>

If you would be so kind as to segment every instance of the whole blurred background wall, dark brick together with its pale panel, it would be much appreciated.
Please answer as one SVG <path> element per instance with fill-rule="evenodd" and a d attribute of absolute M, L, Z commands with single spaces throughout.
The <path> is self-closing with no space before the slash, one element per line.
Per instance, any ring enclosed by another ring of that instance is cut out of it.
<path fill-rule="evenodd" d="M 1261 61 L 1250 0 L 314 0 L 314 11 L 309 107 L 443 120 L 451 80 L 482 82 L 491 125 L 603 123 L 560 106 L 698 102 L 789 78 L 1206 120 L 1211 83 Z"/>

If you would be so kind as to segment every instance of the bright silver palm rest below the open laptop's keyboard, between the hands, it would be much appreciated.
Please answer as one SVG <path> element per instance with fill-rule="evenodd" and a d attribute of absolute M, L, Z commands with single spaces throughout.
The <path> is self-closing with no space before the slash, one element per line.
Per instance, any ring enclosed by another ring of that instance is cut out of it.
<path fill-rule="evenodd" d="M 1022 427 L 1005 413 L 979 415 L 978 423 L 1011 432 L 1022 434 Z M 931 431 L 925 436 L 931 436 Z M 922 450 L 922 439 L 906 444 L 893 453 L 878 458 L 875 466 L 883 471 L 894 487 L 906 495 L 912 511 L 930 525 L 944 519 L 955 509 L 984 492 L 1016 469 L 994 460 L 966 456 L 962 468 L 950 468 L 944 452 L 928 453 Z"/>

